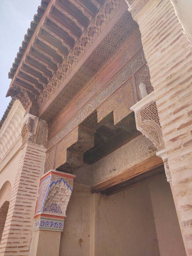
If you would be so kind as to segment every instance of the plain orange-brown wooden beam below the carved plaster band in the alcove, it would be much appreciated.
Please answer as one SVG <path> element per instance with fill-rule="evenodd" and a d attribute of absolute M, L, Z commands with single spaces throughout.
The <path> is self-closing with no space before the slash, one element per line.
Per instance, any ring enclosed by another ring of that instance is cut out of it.
<path fill-rule="evenodd" d="M 147 160 L 130 167 L 129 169 L 125 170 L 124 172 L 121 172 L 121 173 L 109 178 L 108 180 L 102 181 L 101 183 L 93 186 L 92 193 L 106 190 L 107 188 L 115 186 L 115 185 L 122 183 L 126 180 L 130 180 L 133 177 L 140 175 L 141 173 L 148 172 L 148 171 L 153 170 L 154 168 L 157 168 L 161 165 L 163 165 L 163 160 L 160 157 L 153 156 L 151 158 L 148 158 Z"/>

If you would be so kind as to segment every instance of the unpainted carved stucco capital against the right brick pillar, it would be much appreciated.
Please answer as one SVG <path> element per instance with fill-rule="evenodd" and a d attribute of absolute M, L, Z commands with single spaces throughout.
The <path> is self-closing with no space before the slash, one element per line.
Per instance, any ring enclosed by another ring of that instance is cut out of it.
<path fill-rule="evenodd" d="M 137 130 L 145 135 L 158 150 L 163 149 L 164 141 L 154 93 L 151 92 L 130 109 L 135 112 Z"/>

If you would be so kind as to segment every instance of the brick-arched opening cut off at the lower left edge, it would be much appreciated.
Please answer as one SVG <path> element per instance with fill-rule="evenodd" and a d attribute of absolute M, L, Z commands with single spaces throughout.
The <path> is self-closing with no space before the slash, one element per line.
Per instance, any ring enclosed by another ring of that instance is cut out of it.
<path fill-rule="evenodd" d="M 6 181 L 0 189 L 0 243 L 3 235 L 5 221 L 9 209 L 12 187 L 9 181 Z"/>

